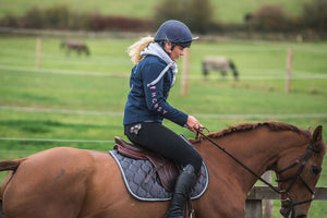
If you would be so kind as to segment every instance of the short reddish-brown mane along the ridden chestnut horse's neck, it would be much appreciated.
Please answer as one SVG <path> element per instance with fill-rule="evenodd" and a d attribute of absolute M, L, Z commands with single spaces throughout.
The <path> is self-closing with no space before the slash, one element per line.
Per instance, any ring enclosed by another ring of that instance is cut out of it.
<path fill-rule="evenodd" d="M 259 128 L 268 128 L 270 131 L 293 131 L 299 134 L 310 135 L 308 131 L 301 130 L 300 128 L 298 128 L 295 125 L 284 123 L 284 122 L 269 121 L 269 122 L 253 122 L 253 123 L 241 123 L 238 125 L 230 125 L 229 128 L 227 128 L 225 130 L 209 133 L 209 134 L 207 134 L 207 136 L 210 138 L 222 137 L 222 136 L 235 133 L 235 132 L 252 131 L 252 130 L 256 130 Z M 202 138 L 203 138 L 203 136 L 199 136 L 197 140 L 192 138 L 190 141 L 191 141 L 191 143 L 196 143 L 196 142 L 199 142 Z"/>

